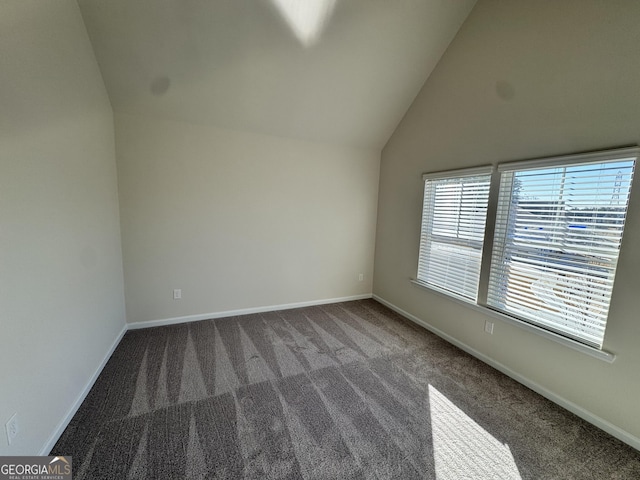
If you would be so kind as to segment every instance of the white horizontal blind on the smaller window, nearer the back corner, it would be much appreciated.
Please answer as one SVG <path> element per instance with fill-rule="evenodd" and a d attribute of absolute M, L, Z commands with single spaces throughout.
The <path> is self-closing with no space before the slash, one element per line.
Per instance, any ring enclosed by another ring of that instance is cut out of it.
<path fill-rule="evenodd" d="M 491 170 L 424 175 L 419 282 L 476 301 Z"/>

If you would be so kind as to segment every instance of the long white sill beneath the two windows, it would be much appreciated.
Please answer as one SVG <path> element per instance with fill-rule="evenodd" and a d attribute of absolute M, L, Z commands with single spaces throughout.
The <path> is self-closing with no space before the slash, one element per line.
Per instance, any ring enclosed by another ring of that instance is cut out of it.
<path fill-rule="evenodd" d="M 578 352 L 584 353 L 586 355 L 589 355 L 591 357 L 597 358 L 599 360 L 603 360 L 607 363 L 613 363 L 616 359 L 615 354 L 610 353 L 610 352 L 606 352 L 604 350 L 598 350 L 597 348 L 593 348 L 593 347 L 589 347 L 588 345 L 584 345 L 580 342 L 576 342 L 574 340 L 571 340 L 569 338 L 563 337 L 562 335 L 558 335 L 556 333 L 550 332 L 548 330 L 544 330 L 543 328 L 537 327 L 535 325 L 532 325 L 530 323 L 527 323 L 523 320 L 520 320 L 516 317 L 512 317 L 510 315 L 498 312 L 496 310 L 493 310 L 489 307 L 485 307 L 483 305 L 478 305 L 474 302 L 472 302 L 471 300 L 468 300 L 466 298 L 460 297 L 458 295 L 455 295 L 451 292 L 447 292 L 445 290 L 439 289 L 439 288 L 435 288 L 432 287 L 431 285 L 428 285 L 424 282 L 421 282 L 419 280 L 415 280 L 415 279 L 411 279 L 411 283 L 413 283 L 414 285 L 421 287 L 421 288 L 425 288 L 431 292 L 436 293 L 437 295 L 440 295 L 442 297 L 448 298 L 450 300 L 453 300 L 456 303 L 459 303 L 461 305 L 464 305 L 466 307 L 471 308 L 472 310 L 475 310 L 477 312 L 480 312 L 484 315 L 488 315 L 490 317 L 493 318 L 497 318 L 500 321 L 503 321 L 505 323 L 509 323 L 511 325 L 516 325 L 519 328 L 522 328 L 523 330 L 527 330 L 528 332 L 532 332 L 535 333 L 537 335 L 540 335 L 542 337 L 545 337 L 549 340 L 552 340 L 556 343 L 560 343 L 561 345 L 564 345 L 566 347 L 569 347 L 573 350 L 576 350 Z"/>

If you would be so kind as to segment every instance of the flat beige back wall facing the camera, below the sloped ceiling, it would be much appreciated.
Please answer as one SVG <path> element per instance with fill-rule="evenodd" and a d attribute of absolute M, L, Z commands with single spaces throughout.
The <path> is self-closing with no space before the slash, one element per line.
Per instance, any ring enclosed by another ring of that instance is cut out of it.
<path fill-rule="evenodd" d="M 129 322 L 371 293 L 379 152 L 115 125 Z"/>

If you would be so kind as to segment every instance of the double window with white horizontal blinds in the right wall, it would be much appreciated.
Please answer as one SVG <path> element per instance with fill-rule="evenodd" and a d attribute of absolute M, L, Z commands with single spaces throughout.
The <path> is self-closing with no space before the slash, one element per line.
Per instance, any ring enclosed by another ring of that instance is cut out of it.
<path fill-rule="evenodd" d="M 490 170 L 425 175 L 417 283 L 601 349 L 639 151 L 499 165 L 484 262 Z"/>

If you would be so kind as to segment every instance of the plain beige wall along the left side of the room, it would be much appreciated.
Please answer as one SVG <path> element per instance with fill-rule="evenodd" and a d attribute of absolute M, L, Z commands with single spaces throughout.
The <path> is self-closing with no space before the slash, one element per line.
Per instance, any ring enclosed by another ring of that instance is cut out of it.
<path fill-rule="evenodd" d="M 125 325 L 113 117 L 75 1 L 0 31 L 0 455 L 35 455 Z"/>

